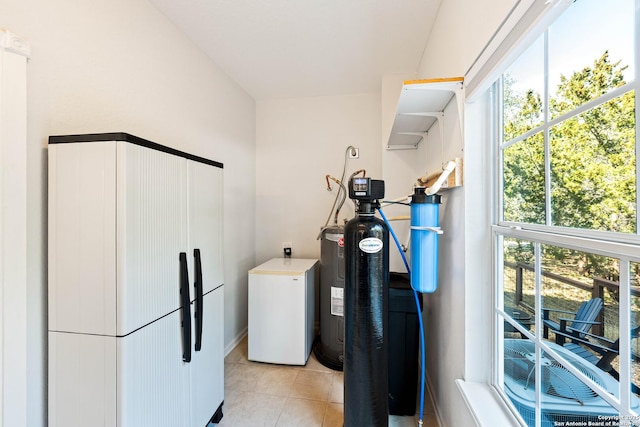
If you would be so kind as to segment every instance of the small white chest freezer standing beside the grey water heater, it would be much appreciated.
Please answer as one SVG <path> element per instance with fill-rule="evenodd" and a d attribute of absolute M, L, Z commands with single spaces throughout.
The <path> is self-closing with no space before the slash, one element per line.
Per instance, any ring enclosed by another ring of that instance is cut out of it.
<path fill-rule="evenodd" d="M 317 265 L 315 259 L 274 258 L 249 271 L 249 360 L 307 363 Z"/>

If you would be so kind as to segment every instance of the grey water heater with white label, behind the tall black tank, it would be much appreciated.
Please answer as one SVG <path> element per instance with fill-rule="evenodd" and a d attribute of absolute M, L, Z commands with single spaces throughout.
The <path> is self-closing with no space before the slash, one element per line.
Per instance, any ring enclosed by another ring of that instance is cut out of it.
<path fill-rule="evenodd" d="M 322 230 L 320 241 L 320 335 L 313 353 L 324 366 L 342 371 L 344 359 L 344 227 Z"/>

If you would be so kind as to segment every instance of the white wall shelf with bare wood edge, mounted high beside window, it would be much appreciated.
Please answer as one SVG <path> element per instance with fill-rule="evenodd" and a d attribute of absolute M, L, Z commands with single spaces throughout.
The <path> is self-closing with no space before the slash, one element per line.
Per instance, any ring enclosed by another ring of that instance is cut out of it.
<path fill-rule="evenodd" d="M 463 102 L 462 77 L 405 80 L 387 150 L 416 149 L 436 123 L 443 140 L 444 109 L 452 99 Z M 461 114 L 462 108 L 458 108 Z"/>

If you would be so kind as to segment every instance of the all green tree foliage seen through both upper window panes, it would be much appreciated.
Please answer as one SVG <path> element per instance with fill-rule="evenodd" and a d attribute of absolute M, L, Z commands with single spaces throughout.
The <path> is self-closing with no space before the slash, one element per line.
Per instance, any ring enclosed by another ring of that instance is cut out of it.
<path fill-rule="evenodd" d="M 625 69 L 604 52 L 591 66 L 560 77 L 548 106 L 549 116 L 561 119 L 548 134 L 550 193 L 545 190 L 543 131 L 508 145 L 503 150 L 506 220 L 535 224 L 548 220 L 562 227 L 636 232 L 634 92 L 581 114 L 571 113 L 624 85 Z M 516 93 L 513 83 L 508 76 L 503 80 L 505 142 L 539 127 L 544 118 L 541 95 L 534 90 Z M 568 254 L 563 253 L 555 256 Z M 617 276 L 615 266 L 585 257 L 586 273 Z"/>

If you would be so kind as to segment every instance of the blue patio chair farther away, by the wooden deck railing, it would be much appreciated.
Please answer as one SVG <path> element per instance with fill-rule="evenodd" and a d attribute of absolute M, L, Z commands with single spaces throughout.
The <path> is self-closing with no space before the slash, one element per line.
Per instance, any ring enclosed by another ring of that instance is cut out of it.
<path fill-rule="evenodd" d="M 596 322 L 596 318 L 602 311 L 602 307 L 603 303 L 601 298 L 592 298 L 589 301 L 583 302 L 575 313 L 572 311 L 543 308 L 542 336 L 548 339 L 549 329 L 551 329 L 553 332 L 563 330 L 565 333 L 574 335 L 577 338 L 584 338 L 584 333 L 589 332 L 591 326 L 601 323 Z M 565 317 L 560 317 L 560 323 L 556 323 L 549 318 L 550 312 L 562 313 Z M 573 315 L 573 318 L 569 318 L 566 315 Z"/>

